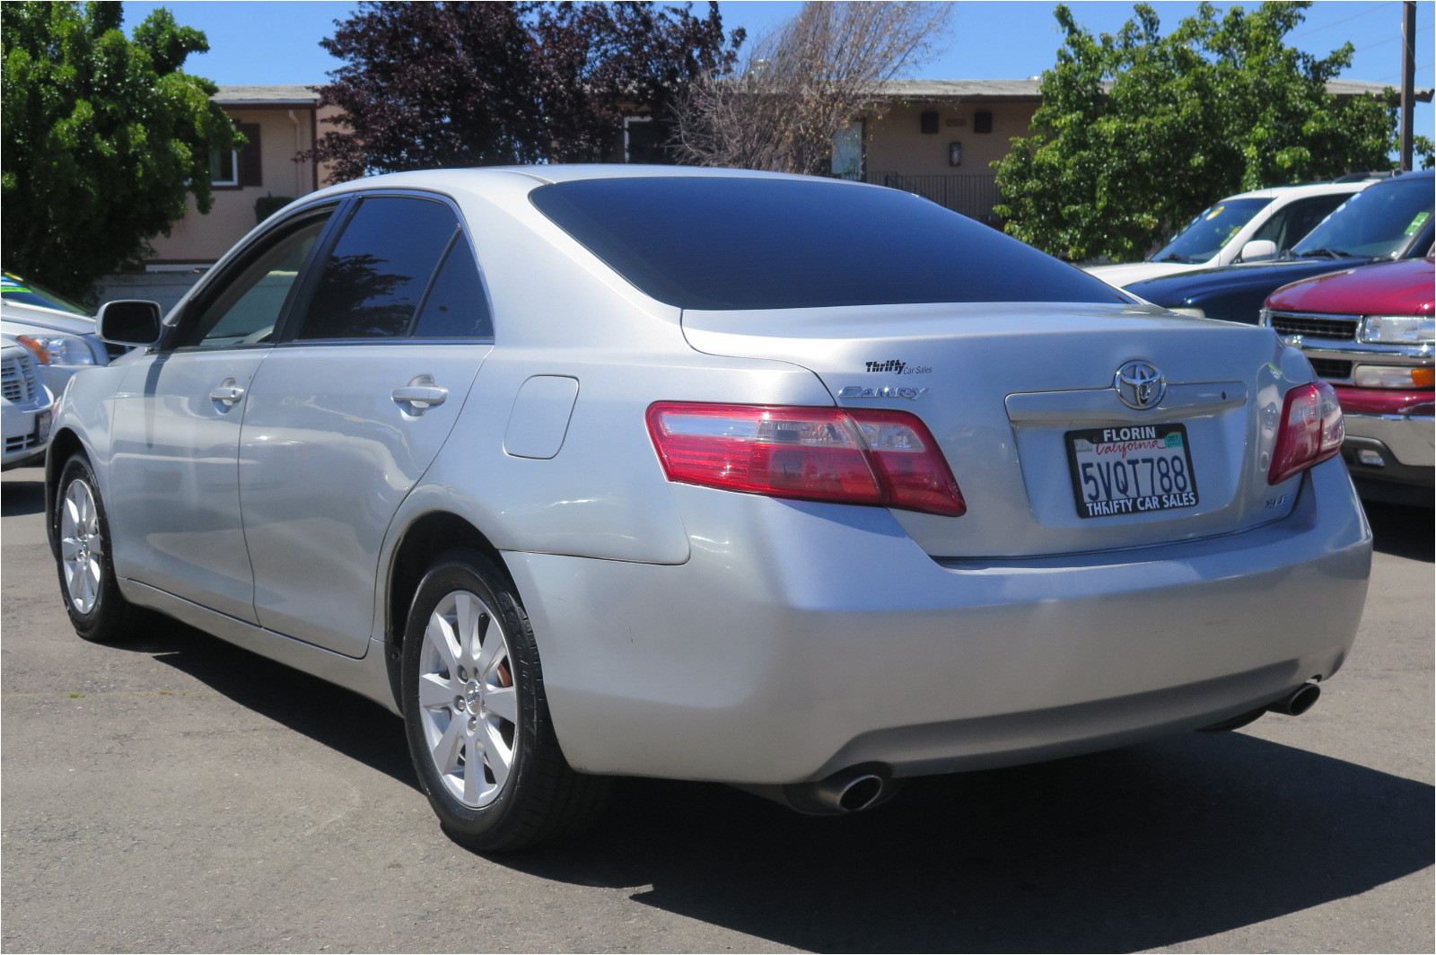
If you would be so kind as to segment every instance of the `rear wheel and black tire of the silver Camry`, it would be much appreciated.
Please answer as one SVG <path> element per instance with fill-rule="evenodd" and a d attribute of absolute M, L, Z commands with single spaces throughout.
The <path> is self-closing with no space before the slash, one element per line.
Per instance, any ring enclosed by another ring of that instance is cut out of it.
<path fill-rule="evenodd" d="M 414 770 L 455 842 L 526 849 L 572 836 L 602 811 L 612 780 L 574 773 L 563 758 L 528 616 L 478 551 L 444 553 L 419 582 L 402 695 Z"/>

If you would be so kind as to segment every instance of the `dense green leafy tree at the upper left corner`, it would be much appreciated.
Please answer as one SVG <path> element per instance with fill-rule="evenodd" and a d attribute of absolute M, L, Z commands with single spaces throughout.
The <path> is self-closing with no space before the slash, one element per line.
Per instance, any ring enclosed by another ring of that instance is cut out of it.
<path fill-rule="evenodd" d="M 233 148 L 214 83 L 181 70 L 210 49 L 164 9 L 129 40 L 119 3 L 6 3 L 0 248 L 6 269 L 75 297 L 151 254 L 194 195 L 210 151 Z"/>

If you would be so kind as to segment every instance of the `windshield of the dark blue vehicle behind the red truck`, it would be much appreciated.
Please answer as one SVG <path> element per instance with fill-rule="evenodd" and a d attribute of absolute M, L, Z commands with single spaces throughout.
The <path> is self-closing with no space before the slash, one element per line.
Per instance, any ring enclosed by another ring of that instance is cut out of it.
<path fill-rule="evenodd" d="M 1432 218 L 1432 178 L 1400 177 L 1357 192 L 1291 250 L 1292 256 L 1400 254 Z"/>

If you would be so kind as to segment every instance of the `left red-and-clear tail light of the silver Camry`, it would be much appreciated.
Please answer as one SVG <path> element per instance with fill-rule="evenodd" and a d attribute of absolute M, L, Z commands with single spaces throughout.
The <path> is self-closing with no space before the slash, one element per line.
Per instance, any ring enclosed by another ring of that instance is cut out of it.
<path fill-rule="evenodd" d="M 962 491 L 905 411 L 659 402 L 648 431 L 669 481 L 958 517 Z"/>

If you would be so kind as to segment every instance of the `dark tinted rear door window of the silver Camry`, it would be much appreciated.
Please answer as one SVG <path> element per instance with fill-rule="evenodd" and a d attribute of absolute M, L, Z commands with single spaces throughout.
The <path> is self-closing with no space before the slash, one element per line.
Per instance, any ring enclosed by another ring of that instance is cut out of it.
<path fill-rule="evenodd" d="M 296 337 L 408 335 L 457 231 L 458 220 L 442 202 L 388 195 L 363 200 L 323 264 Z"/>

